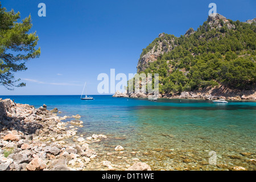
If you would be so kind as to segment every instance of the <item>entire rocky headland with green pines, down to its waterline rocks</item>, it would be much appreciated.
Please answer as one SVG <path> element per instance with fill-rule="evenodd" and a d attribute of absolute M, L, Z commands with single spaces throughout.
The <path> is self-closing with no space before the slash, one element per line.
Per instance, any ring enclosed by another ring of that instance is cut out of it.
<path fill-rule="evenodd" d="M 197 30 L 189 28 L 180 37 L 161 33 L 142 49 L 137 73 L 159 73 L 161 94 L 158 98 L 255 101 L 255 47 L 228 48 L 245 44 L 247 40 L 242 40 L 243 36 L 249 36 L 248 41 L 254 40 L 255 22 L 256 18 L 235 22 L 214 13 Z M 250 28 L 245 31 L 245 27 Z M 242 64 L 243 61 L 251 67 Z M 148 98 L 152 95 L 116 92 L 113 97 Z"/>

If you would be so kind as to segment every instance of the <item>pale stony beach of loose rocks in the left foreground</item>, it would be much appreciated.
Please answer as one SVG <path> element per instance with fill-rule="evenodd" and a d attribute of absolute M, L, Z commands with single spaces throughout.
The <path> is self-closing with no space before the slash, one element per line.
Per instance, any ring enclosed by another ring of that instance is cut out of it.
<path fill-rule="evenodd" d="M 93 160 L 105 170 L 119 169 L 108 160 L 98 161 L 96 150 L 90 146 L 106 139 L 106 135 L 78 135 L 77 130 L 83 125 L 80 115 L 64 122 L 69 117 L 56 113 L 56 108 L 49 111 L 46 105 L 35 109 L 0 99 L 0 171 L 82 171 Z M 122 146 L 113 148 L 120 155 L 123 150 Z M 135 162 L 126 170 L 151 168 Z"/>

